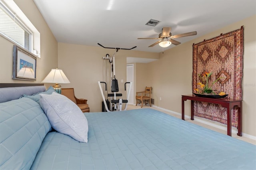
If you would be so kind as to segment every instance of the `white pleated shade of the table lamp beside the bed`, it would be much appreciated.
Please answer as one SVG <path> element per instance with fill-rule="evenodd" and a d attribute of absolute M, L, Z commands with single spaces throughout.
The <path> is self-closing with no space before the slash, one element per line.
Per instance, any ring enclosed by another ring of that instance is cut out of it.
<path fill-rule="evenodd" d="M 42 83 L 70 83 L 62 69 L 52 69 Z"/>

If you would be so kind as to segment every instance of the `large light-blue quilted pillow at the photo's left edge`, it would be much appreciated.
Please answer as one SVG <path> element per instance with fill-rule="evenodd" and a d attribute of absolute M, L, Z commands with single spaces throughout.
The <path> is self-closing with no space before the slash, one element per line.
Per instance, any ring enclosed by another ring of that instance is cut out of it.
<path fill-rule="evenodd" d="M 0 169 L 30 169 L 51 125 L 35 101 L 26 97 L 0 103 Z"/>

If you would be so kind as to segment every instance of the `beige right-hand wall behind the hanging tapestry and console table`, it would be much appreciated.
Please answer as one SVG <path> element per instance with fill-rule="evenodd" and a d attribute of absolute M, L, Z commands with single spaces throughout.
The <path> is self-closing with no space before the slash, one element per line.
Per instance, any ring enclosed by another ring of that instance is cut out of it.
<path fill-rule="evenodd" d="M 256 136 L 256 16 L 226 26 L 191 42 L 180 44 L 160 53 L 160 59 L 148 64 L 148 76 L 137 79 L 140 84 L 150 79 L 154 88 L 155 105 L 181 113 L 181 95 L 192 93 L 192 44 L 202 42 L 244 26 L 244 75 L 242 131 Z M 138 68 L 137 68 L 138 69 Z M 143 77 L 138 75 L 137 77 Z M 162 97 L 162 101 L 159 98 Z M 185 113 L 190 113 L 190 101 L 185 102 Z"/>

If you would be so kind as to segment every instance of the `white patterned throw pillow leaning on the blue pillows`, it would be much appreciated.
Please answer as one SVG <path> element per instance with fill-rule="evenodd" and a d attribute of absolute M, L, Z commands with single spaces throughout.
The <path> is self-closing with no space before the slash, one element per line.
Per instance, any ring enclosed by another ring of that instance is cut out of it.
<path fill-rule="evenodd" d="M 40 105 L 56 131 L 79 142 L 88 142 L 87 119 L 74 102 L 58 93 L 40 96 Z"/>

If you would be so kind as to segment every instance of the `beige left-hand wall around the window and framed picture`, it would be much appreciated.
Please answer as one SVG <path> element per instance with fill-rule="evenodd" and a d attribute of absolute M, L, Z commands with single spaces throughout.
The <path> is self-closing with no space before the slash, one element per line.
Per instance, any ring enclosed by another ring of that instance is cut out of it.
<path fill-rule="evenodd" d="M 14 0 L 40 32 L 41 58 L 37 58 L 36 81 L 12 80 L 13 43 L 0 36 L 0 83 L 40 83 L 52 68 L 58 66 L 58 43 L 33 0 Z"/>

